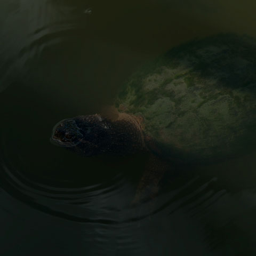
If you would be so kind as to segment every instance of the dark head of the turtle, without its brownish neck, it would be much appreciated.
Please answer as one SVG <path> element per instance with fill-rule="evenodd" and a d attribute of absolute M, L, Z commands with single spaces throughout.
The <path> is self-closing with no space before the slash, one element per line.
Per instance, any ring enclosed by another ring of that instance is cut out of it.
<path fill-rule="evenodd" d="M 51 142 L 85 156 L 92 156 L 107 151 L 110 137 L 109 121 L 95 114 L 60 121 L 53 128 Z"/>

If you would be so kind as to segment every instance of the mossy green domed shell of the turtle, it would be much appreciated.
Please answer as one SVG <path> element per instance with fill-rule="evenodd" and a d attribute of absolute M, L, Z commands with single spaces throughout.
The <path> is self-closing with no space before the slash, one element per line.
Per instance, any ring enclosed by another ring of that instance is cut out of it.
<path fill-rule="evenodd" d="M 116 99 L 141 115 L 167 157 L 210 160 L 256 143 L 256 41 L 217 35 L 174 47 L 133 74 Z"/>

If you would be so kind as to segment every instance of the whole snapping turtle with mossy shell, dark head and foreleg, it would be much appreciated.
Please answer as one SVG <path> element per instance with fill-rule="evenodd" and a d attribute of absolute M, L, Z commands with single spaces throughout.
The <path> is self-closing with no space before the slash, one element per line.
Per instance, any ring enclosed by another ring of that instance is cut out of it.
<path fill-rule="evenodd" d="M 59 122 L 52 141 L 85 156 L 149 151 L 140 202 L 157 192 L 168 161 L 215 162 L 254 149 L 256 41 L 225 34 L 174 47 L 132 75 L 114 105 L 113 115 Z"/>

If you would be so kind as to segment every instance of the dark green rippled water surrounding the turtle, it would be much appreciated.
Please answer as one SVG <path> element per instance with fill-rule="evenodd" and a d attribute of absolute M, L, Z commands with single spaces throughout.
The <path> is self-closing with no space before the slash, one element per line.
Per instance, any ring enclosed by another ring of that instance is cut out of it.
<path fill-rule="evenodd" d="M 256 153 L 167 173 L 149 218 L 147 204 L 129 207 L 146 156 L 83 158 L 49 138 L 172 46 L 256 36 L 255 5 L 2 0 L 0 254 L 254 255 Z"/>

